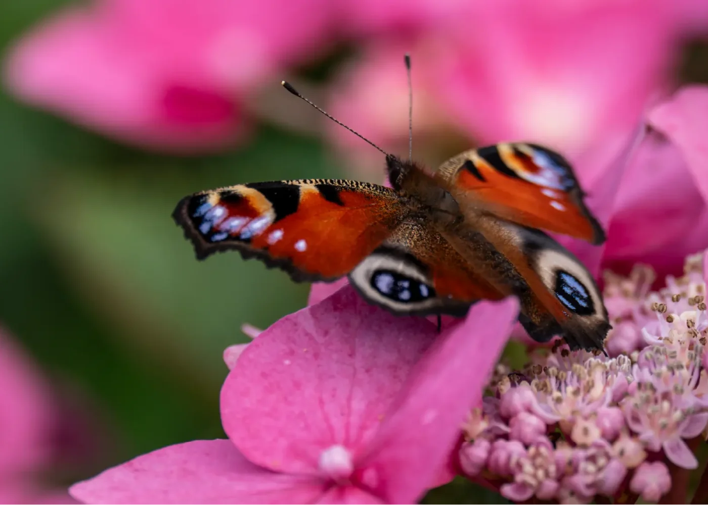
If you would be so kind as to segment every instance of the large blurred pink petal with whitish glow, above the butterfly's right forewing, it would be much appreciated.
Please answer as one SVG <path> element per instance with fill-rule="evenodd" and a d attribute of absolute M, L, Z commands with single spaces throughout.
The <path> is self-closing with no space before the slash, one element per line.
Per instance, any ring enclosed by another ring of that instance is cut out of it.
<path fill-rule="evenodd" d="M 475 2 L 445 34 L 440 100 L 481 144 L 537 141 L 602 166 L 663 83 L 671 9 L 662 0 Z"/>

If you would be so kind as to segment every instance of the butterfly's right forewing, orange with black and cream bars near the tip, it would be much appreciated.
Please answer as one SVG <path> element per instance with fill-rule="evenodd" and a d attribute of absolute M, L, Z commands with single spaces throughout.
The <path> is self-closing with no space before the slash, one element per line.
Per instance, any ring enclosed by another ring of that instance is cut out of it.
<path fill-rule="evenodd" d="M 605 241 L 573 169 L 550 149 L 522 143 L 473 149 L 443 163 L 435 176 L 463 212 L 473 207 L 523 226 Z"/>

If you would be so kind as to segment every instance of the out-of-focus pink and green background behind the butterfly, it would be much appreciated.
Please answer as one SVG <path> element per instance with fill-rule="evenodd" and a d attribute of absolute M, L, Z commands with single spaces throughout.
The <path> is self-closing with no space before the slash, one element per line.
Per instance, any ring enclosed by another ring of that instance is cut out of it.
<path fill-rule="evenodd" d="M 653 101 L 708 82 L 707 40 L 690 0 L 0 2 L 0 325 L 51 412 L 37 485 L 223 436 L 223 349 L 306 303 L 236 253 L 197 262 L 181 197 L 382 182 L 380 153 L 281 79 L 405 155 L 410 52 L 415 158 L 542 141 L 589 185 Z"/>

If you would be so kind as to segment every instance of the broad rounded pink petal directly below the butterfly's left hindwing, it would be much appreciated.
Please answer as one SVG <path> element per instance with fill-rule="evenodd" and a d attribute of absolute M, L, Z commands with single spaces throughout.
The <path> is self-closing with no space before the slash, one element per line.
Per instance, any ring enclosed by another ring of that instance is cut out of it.
<path fill-rule="evenodd" d="M 222 389 L 224 429 L 254 463 L 318 473 L 326 448 L 356 454 L 371 438 L 435 335 L 423 318 L 396 317 L 345 286 L 241 354 Z"/>

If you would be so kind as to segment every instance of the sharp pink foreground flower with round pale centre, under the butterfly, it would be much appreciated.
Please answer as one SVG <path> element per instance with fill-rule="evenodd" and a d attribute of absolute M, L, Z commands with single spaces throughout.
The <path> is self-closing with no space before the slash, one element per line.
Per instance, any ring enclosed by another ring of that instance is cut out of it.
<path fill-rule="evenodd" d="M 160 449 L 71 492 L 89 505 L 413 504 L 439 482 L 517 310 L 479 303 L 436 339 L 345 287 L 239 356 L 221 396 L 229 440 Z"/>

